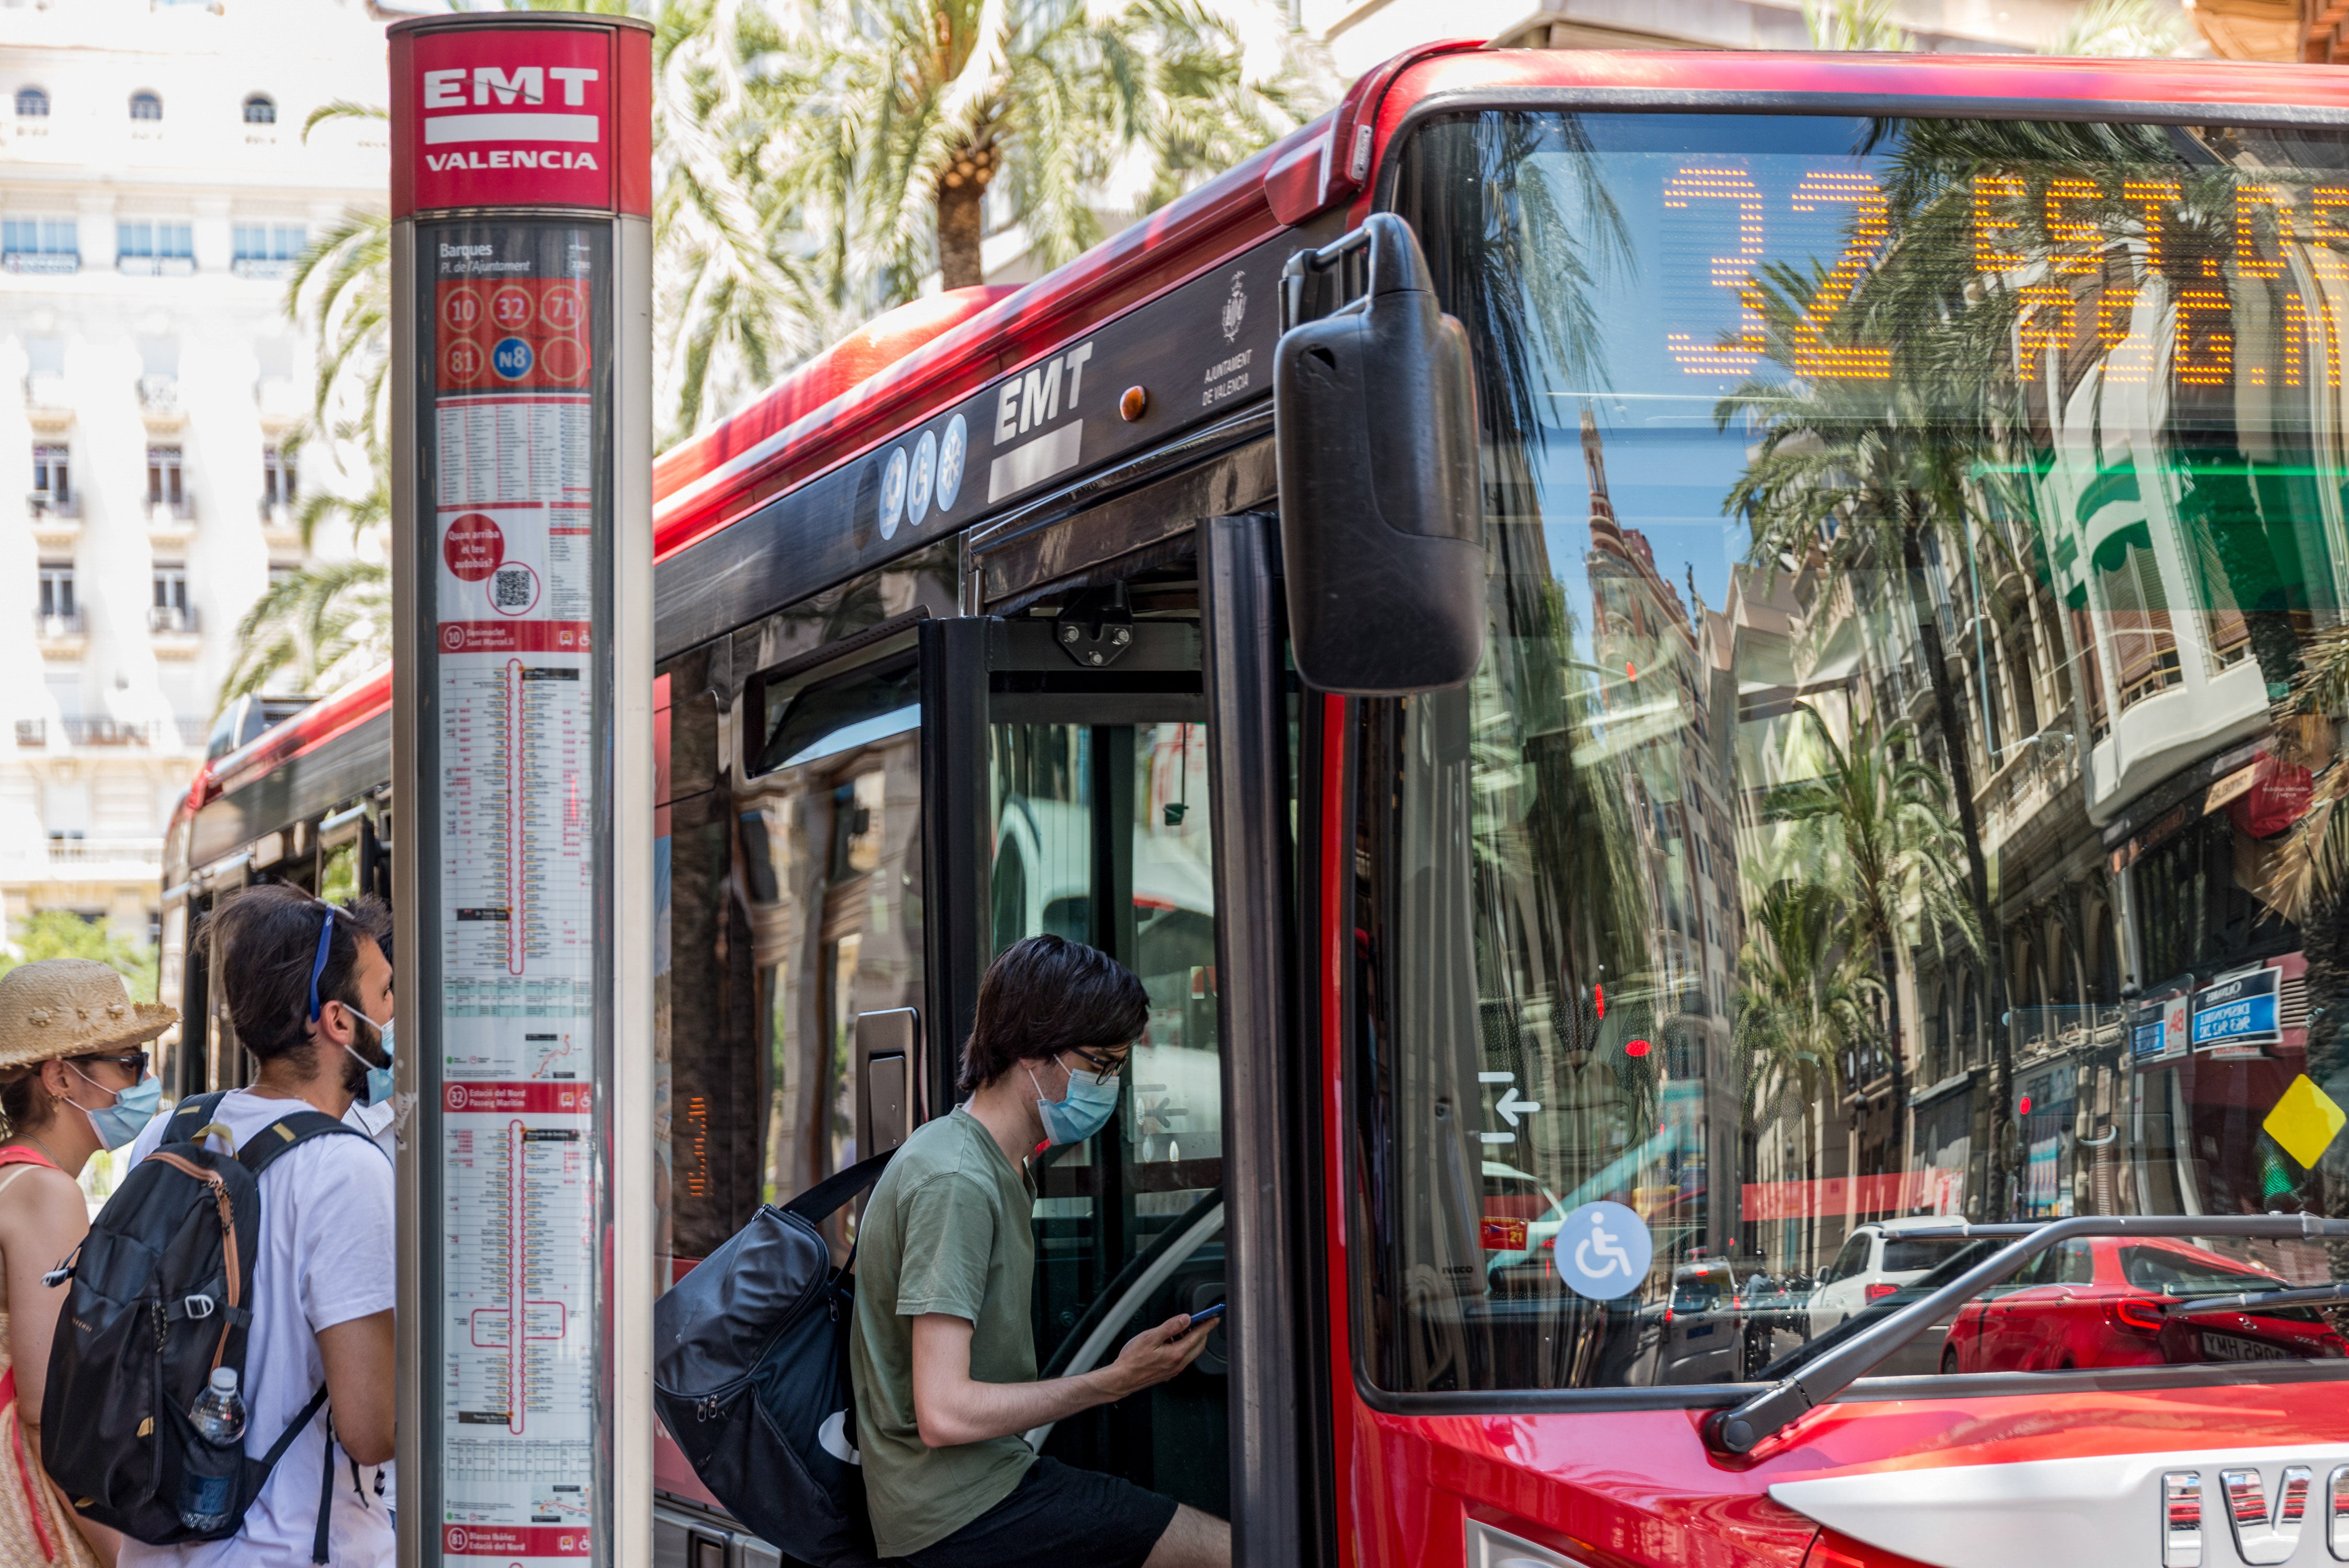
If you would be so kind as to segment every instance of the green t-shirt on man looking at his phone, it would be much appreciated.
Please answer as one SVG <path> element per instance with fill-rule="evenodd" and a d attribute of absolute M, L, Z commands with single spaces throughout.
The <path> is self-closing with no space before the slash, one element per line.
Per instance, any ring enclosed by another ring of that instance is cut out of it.
<path fill-rule="evenodd" d="M 914 1425 L 914 1319 L 970 1322 L 977 1383 L 1034 1383 L 1029 1188 L 968 1108 L 926 1122 L 857 1228 L 857 1446 L 881 1556 L 921 1552 L 1003 1502 L 1036 1451 L 1019 1437 L 926 1448 Z"/>

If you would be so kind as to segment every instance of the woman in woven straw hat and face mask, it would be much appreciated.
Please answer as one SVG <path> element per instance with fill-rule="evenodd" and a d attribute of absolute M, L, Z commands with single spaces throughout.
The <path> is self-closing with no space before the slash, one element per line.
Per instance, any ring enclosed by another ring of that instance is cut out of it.
<path fill-rule="evenodd" d="M 75 1185 L 101 1148 L 155 1115 L 162 1084 L 146 1045 L 174 1007 L 132 1002 L 122 976 L 87 958 L 0 974 L 0 1563 L 92 1568 L 117 1537 L 87 1523 L 40 1469 L 40 1394 L 63 1286 L 42 1284 L 89 1230 Z"/>

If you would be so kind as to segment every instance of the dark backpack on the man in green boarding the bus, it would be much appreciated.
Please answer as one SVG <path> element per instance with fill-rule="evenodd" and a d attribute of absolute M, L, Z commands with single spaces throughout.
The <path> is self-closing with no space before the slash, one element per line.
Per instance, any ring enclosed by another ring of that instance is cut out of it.
<path fill-rule="evenodd" d="M 855 1256 L 832 1268 L 817 1225 L 888 1160 L 763 1204 L 653 1305 L 660 1425 L 735 1519 L 815 1568 L 874 1563 L 848 1383 Z"/>

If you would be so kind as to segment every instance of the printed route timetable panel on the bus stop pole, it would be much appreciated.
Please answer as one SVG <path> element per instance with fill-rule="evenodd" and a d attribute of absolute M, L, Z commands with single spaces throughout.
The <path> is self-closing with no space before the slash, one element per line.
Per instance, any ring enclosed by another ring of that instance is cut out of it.
<path fill-rule="evenodd" d="M 590 1556 L 608 230 L 418 235 L 439 854 L 442 1552 Z"/>

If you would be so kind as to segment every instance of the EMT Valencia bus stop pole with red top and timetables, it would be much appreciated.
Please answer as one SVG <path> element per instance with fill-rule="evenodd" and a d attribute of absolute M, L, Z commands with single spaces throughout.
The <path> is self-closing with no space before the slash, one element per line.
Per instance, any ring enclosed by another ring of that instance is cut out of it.
<path fill-rule="evenodd" d="M 653 1545 L 651 28 L 390 31 L 399 1563 Z"/>

